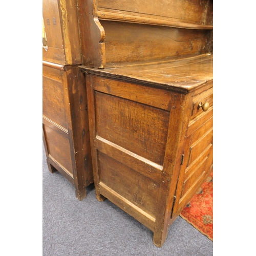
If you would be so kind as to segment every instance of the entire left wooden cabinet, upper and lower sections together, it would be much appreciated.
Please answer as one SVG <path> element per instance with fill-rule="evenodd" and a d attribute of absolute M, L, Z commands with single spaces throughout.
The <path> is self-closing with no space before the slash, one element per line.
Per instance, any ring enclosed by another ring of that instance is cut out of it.
<path fill-rule="evenodd" d="M 58 170 L 86 197 L 93 182 L 87 93 L 76 0 L 43 0 L 42 126 L 50 172 Z"/>

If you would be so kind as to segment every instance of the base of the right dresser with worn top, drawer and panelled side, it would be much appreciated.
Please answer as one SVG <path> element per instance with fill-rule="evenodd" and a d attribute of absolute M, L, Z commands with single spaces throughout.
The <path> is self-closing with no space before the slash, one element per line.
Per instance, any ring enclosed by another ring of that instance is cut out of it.
<path fill-rule="evenodd" d="M 80 69 L 97 199 L 108 198 L 151 229 L 160 247 L 212 170 L 212 54 Z"/>

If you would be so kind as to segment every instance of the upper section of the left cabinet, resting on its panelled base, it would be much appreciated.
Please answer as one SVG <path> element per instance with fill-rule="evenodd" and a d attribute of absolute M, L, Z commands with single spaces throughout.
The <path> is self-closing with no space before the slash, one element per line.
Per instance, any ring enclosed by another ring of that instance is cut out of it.
<path fill-rule="evenodd" d="M 61 65 L 81 64 L 76 0 L 43 0 L 42 17 L 47 46 L 43 60 Z"/>

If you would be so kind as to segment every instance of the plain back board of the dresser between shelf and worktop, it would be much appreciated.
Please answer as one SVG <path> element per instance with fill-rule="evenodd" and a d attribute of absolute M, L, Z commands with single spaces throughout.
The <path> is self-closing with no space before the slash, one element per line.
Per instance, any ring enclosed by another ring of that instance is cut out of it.
<path fill-rule="evenodd" d="M 207 30 L 190 30 L 163 26 L 101 20 L 105 31 L 106 63 L 164 59 L 202 51 L 210 37 Z M 135 33 L 136 31 L 136 33 Z"/>

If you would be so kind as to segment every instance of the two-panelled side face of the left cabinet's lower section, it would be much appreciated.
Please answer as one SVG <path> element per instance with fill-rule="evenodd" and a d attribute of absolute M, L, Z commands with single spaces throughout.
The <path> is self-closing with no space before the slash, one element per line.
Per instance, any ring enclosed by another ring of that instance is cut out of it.
<path fill-rule="evenodd" d="M 42 66 L 42 124 L 48 160 L 73 183 L 68 121 L 60 69 Z"/>

